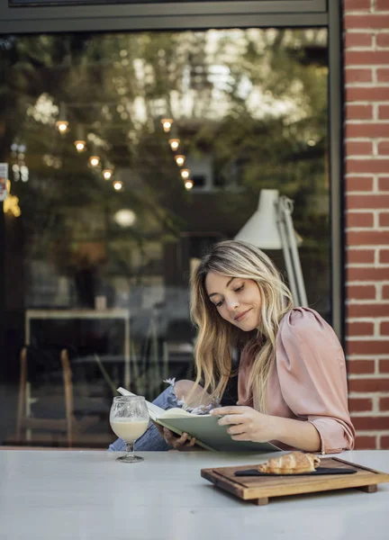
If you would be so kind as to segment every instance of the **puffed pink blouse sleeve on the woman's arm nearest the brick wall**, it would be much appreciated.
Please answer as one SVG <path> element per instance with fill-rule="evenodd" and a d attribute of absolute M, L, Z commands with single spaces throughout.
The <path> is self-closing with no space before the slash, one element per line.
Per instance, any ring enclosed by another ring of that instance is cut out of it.
<path fill-rule="evenodd" d="M 345 357 L 334 330 L 319 313 L 296 308 L 281 320 L 276 369 L 289 409 L 318 430 L 321 453 L 352 450 L 355 430 L 348 412 Z"/>

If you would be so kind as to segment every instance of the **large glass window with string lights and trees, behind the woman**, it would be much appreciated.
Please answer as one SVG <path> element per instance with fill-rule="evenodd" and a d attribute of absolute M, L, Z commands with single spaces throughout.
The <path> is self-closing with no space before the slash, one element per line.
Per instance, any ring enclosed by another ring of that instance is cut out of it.
<path fill-rule="evenodd" d="M 105 447 L 117 386 L 151 400 L 192 377 L 191 269 L 263 189 L 294 201 L 330 320 L 325 29 L 5 36 L 0 59 L 3 444 L 66 446 L 71 406 L 71 444 Z"/>

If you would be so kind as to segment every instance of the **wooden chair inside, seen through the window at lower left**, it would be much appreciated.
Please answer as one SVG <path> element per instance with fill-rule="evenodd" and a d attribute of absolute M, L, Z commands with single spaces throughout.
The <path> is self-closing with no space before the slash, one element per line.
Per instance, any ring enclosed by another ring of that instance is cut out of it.
<path fill-rule="evenodd" d="M 16 420 L 16 439 L 18 443 L 27 441 L 27 430 L 40 430 L 50 431 L 55 433 L 66 433 L 68 447 L 73 446 L 77 436 L 85 431 L 90 426 L 94 425 L 99 417 L 97 415 L 86 416 L 81 419 L 77 419 L 75 416 L 74 407 L 74 392 L 72 381 L 72 370 L 68 356 L 68 350 L 62 348 L 57 353 L 60 359 L 61 378 L 63 383 L 63 396 L 54 396 L 56 405 L 65 405 L 63 418 L 44 418 L 41 415 L 34 417 L 30 410 L 30 393 L 31 383 L 29 382 L 29 347 L 23 347 L 20 354 L 20 384 L 19 384 L 19 398 L 18 398 L 18 410 Z M 54 366 L 55 368 L 56 366 Z M 31 374 L 30 374 L 31 375 Z M 39 399 L 40 401 L 48 402 L 47 410 L 50 410 L 50 406 L 53 406 L 53 398 L 45 397 Z M 48 415 L 49 416 L 49 415 Z"/>

